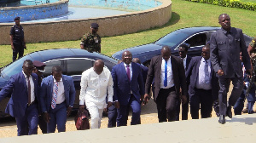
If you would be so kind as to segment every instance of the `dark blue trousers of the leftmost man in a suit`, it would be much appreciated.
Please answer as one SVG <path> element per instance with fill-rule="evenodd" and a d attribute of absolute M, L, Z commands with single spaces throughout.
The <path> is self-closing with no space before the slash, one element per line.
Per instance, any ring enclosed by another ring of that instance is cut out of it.
<path fill-rule="evenodd" d="M 18 136 L 38 134 L 38 107 L 37 104 L 32 104 L 26 107 L 24 117 L 15 117 Z M 28 129 L 28 130 L 27 130 Z"/>

